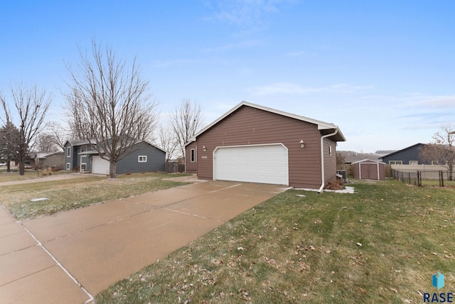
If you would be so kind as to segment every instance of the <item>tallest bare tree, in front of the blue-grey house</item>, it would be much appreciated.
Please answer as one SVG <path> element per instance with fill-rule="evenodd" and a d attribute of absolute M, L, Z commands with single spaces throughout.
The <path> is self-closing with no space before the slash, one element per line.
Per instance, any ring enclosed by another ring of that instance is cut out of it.
<path fill-rule="evenodd" d="M 77 69 L 68 66 L 70 126 L 109 161 L 109 176 L 115 178 L 117 162 L 132 152 L 134 143 L 153 133 L 157 104 L 135 59 L 128 65 L 112 48 L 102 49 L 95 41 L 91 56 L 79 53 Z"/>

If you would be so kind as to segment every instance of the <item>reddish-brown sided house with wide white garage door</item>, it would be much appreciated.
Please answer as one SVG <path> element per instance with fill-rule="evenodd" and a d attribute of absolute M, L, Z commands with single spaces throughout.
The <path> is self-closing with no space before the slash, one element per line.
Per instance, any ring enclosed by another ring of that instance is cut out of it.
<path fill-rule="evenodd" d="M 336 180 L 338 126 L 241 102 L 186 144 L 186 172 L 322 190 Z"/>

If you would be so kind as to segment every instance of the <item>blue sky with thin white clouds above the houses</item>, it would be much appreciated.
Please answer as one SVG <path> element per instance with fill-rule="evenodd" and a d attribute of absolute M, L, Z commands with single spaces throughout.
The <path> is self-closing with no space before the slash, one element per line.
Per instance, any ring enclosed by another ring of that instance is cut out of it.
<path fill-rule="evenodd" d="M 161 117 L 182 99 L 208 124 L 245 100 L 338 125 L 338 150 L 432 141 L 455 125 L 455 1 L 2 1 L 0 89 L 53 95 L 101 40 L 137 58 Z"/>

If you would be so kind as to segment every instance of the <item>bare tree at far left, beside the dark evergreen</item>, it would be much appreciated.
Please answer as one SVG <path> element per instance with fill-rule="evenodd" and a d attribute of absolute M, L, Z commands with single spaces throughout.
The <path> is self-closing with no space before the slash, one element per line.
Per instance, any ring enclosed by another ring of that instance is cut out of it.
<path fill-rule="evenodd" d="M 0 94 L 0 102 L 5 113 L 6 124 L 14 124 L 12 117 L 16 117 L 16 128 L 19 131 L 16 161 L 19 163 L 19 175 L 24 175 L 26 157 L 33 148 L 36 136 L 45 126 L 45 114 L 48 112 L 51 99 L 44 90 L 39 91 L 36 86 L 27 88 L 23 84 L 11 86 L 11 97 L 14 113 L 11 113 L 4 94 Z"/>

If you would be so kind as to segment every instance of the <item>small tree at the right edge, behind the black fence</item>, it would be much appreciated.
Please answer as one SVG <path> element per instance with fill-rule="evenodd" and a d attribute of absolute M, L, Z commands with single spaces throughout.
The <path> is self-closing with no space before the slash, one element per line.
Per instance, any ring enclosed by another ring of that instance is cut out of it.
<path fill-rule="evenodd" d="M 433 136 L 432 143 L 424 146 L 419 153 L 423 161 L 443 162 L 449 170 L 449 180 L 453 179 L 455 165 L 455 134 L 451 126 L 442 126 Z"/>

